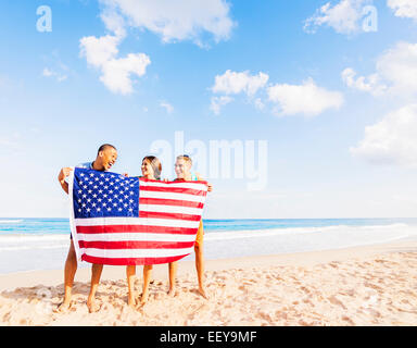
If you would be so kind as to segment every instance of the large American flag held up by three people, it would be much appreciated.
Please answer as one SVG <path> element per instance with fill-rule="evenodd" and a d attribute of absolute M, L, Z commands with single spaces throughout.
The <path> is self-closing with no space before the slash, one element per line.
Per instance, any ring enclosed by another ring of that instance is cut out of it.
<path fill-rule="evenodd" d="M 157 264 L 193 251 L 206 182 L 159 182 L 74 169 L 71 231 L 78 259 Z"/>

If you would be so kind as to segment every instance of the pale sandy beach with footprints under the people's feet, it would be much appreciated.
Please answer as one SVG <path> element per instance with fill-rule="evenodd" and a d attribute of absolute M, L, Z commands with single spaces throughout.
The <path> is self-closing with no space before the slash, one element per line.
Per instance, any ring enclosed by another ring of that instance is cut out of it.
<path fill-rule="evenodd" d="M 0 325 L 417 325 L 416 269 L 417 241 L 208 260 L 206 300 L 193 262 L 179 263 L 175 297 L 167 265 L 156 265 L 149 302 L 135 311 L 125 268 L 104 266 L 96 313 L 86 306 L 89 269 L 76 274 L 67 313 L 53 312 L 62 270 L 13 273 L 0 276 Z"/>

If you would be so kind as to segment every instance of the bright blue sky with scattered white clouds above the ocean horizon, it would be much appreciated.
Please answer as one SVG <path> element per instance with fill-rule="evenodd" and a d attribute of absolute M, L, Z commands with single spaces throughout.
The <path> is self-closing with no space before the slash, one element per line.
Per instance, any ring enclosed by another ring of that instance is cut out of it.
<path fill-rule="evenodd" d="M 267 141 L 267 184 L 208 177 L 206 217 L 417 216 L 413 1 L 168 2 L 0 4 L 0 216 L 66 216 L 62 166 L 111 142 L 113 170 L 139 175 L 151 144 L 174 145 L 175 132 L 207 147 Z M 52 32 L 37 29 L 40 5 Z M 362 28 L 366 5 L 375 32 Z M 103 37 L 116 53 L 94 50 Z"/>

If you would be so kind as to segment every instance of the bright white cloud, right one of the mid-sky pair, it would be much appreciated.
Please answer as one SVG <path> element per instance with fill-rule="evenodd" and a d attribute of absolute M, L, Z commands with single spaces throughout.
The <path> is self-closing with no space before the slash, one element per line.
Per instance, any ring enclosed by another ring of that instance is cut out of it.
<path fill-rule="evenodd" d="M 303 85 L 274 85 L 267 88 L 268 98 L 277 103 L 278 115 L 304 114 L 315 116 L 343 104 L 343 95 L 316 86 L 312 78 Z"/>

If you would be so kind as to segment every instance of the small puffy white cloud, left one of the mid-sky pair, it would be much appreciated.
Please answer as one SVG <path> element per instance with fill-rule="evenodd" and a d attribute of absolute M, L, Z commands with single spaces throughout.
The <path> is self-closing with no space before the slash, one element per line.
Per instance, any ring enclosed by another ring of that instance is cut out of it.
<path fill-rule="evenodd" d="M 268 78 L 269 76 L 262 72 L 257 75 L 250 75 L 248 71 L 237 73 L 228 70 L 225 74 L 215 77 L 212 91 L 225 95 L 245 92 L 248 96 L 253 96 L 260 88 L 265 87 Z"/>

